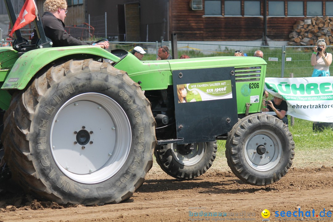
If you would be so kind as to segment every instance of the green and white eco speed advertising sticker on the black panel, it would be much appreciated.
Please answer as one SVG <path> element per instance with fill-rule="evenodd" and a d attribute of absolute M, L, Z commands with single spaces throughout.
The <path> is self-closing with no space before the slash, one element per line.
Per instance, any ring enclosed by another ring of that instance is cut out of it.
<path fill-rule="evenodd" d="M 230 80 L 180 84 L 177 89 L 183 103 L 232 98 Z"/>

